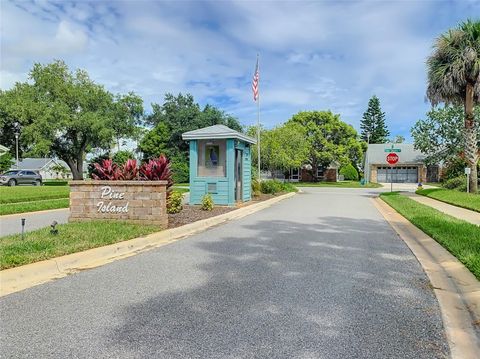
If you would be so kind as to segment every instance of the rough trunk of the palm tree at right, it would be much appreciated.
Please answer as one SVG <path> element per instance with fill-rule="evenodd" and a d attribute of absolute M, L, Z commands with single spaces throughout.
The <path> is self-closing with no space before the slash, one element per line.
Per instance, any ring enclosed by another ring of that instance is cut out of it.
<path fill-rule="evenodd" d="M 477 193 L 477 131 L 473 115 L 473 85 L 467 84 L 465 97 L 465 159 L 470 167 L 469 187 L 471 193 Z"/>

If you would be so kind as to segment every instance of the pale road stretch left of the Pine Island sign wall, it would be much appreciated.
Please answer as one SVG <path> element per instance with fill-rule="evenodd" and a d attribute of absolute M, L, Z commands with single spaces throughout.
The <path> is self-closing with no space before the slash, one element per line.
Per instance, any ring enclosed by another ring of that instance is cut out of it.
<path fill-rule="evenodd" d="M 53 221 L 57 223 L 68 222 L 69 209 L 55 209 L 52 211 L 41 211 L 32 213 L 20 213 L 6 216 L 0 216 L 0 236 L 6 236 L 14 233 L 21 233 L 21 219 L 25 218 L 25 231 L 47 227 Z"/>

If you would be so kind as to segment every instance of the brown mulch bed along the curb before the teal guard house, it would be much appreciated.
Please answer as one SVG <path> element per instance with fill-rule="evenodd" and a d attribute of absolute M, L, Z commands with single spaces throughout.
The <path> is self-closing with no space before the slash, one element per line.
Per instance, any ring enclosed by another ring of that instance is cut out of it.
<path fill-rule="evenodd" d="M 266 201 L 267 199 L 277 197 L 282 194 L 284 193 L 278 193 L 277 195 L 262 193 L 260 196 L 254 197 L 252 201 L 239 203 L 235 207 L 218 206 L 218 207 L 214 207 L 211 211 L 204 211 L 200 208 L 200 206 L 184 205 L 180 213 L 168 215 L 168 228 L 175 228 L 175 227 L 183 226 L 184 224 L 189 224 L 192 222 L 199 221 L 201 219 L 218 216 L 220 214 L 233 211 L 240 207 L 246 207 L 254 203 Z"/>

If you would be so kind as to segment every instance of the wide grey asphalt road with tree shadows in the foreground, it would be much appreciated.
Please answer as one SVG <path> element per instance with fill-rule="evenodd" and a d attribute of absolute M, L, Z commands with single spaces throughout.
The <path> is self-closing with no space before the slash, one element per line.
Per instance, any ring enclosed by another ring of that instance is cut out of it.
<path fill-rule="evenodd" d="M 424 272 L 369 190 L 289 200 L 0 299 L 5 358 L 442 358 Z"/>

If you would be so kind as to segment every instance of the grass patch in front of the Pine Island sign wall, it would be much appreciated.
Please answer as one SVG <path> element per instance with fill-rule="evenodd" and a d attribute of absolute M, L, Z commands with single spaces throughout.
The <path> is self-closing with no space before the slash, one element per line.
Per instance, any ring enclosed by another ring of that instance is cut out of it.
<path fill-rule="evenodd" d="M 158 226 L 124 222 L 91 221 L 58 225 L 58 235 L 43 228 L 25 234 L 0 237 L 0 269 L 80 252 L 90 248 L 144 236 L 160 230 Z"/>

